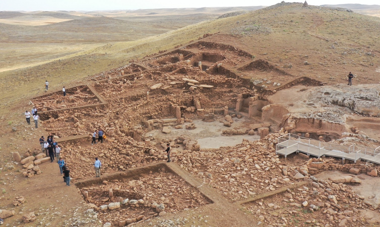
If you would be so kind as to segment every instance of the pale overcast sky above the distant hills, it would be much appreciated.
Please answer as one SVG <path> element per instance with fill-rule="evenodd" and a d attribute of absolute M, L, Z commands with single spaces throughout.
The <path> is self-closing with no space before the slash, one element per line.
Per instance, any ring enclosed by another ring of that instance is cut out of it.
<path fill-rule="evenodd" d="M 137 10 L 158 8 L 201 8 L 225 6 L 269 6 L 282 0 L 0 0 L 0 11 L 94 11 L 94 10 Z M 285 2 L 304 2 L 288 0 Z M 360 3 L 379 5 L 378 0 L 309 0 L 309 5 L 336 5 Z"/>

